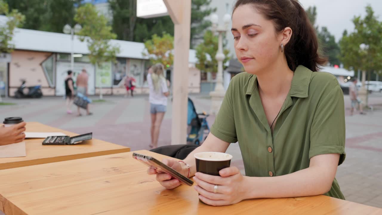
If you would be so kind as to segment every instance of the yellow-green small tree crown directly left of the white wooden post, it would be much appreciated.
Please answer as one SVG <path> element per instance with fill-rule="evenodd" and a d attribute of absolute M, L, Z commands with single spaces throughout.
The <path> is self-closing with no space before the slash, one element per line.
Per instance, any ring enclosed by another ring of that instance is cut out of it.
<path fill-rule="evenodd" d="M 151 39 L 144 43 L 144 46 L 147 52 L 143 52 L 142 55 L 148 56 L 152 64 L 161 63 L 165 66 L 173 64 L 174 37 L 170 34 L 163 33 L 162 37 L 154 34 Z"/>

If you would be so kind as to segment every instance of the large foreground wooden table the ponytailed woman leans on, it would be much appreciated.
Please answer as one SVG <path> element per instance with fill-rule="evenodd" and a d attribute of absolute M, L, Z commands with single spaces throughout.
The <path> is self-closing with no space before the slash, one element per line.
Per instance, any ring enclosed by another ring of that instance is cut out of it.
<path fill-rule="evenodd" d="M 139 153 L 162 159 L 150 151 Z M 212 207 L 189 186 L 166 190 L 132 152 L 0 171 L 0 209 L 7 215 L 110 214 L 382 214 L 382 209 L 324 195 L 246 200 Z"/>

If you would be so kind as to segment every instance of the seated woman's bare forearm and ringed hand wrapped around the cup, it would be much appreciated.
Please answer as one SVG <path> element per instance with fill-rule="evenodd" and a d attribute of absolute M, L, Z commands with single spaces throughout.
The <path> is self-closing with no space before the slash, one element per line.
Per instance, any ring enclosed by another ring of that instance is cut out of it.
<path fill-rule="evenodd" d="M 287 198 L 325 194 L 332 187 L 340 155 L 311 158 L 309 168 L 276 177 L 243 176 L 236 167 L 220 170 L 220 176 L 197 173 L 194 188 L 206 204 L 231 205 L 244 199 Z M 218 193 L 213 193 L 214 185 Z"/>

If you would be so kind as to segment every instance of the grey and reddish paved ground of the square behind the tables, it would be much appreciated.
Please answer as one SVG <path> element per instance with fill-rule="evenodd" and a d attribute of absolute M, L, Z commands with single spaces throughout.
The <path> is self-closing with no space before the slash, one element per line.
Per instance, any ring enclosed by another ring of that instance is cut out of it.
<path fill-rule="evenodd" d="M 190 97 L 198 112 L 209 111 L 210 100 L 206 95 Z M 5 99 L 17 105 L 0 106 L 0 119 L 22 116 L 26 121 L 38 121 L 76 133 L 93 132 L 94 138 L 126 145 L 131 150 L 149 149 L 147 96 L 105 96 L 105 99 L 105 103 L 92 104 L 94 115 L 82 117 L 66 114 L 65 101 L 61 97 Z M 366 116 L 349 116 L 350 101 L 345 96 L 346 160 L 338 167 L 336 177 L 347 200 L 382 208 L 382 94 L 371 95 L 369 103 L 375 107 L 374 111 Z M 160 130 L 159 146 L 170 144 L 171 113 L 170 105 Z M 209 125 L 213 121 L 214 116 L 210 116 Z M 245 174 L 238 144 L 231 144 L 227 153 L 234 157 L 232 165 Z"/>

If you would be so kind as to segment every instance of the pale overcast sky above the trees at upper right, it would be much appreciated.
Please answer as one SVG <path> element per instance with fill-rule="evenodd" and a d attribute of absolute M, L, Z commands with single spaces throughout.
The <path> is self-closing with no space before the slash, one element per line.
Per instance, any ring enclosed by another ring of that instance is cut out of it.
<path fill-rule="evenodd" d="M 327 26 L 336 41 L 342 37 L 343 30 L 353 32 L 354 24 L 351 19 L 365 16 L 365 7 L 370 4 L 378 20 L 382 21 L 382 0 L 299 0 L 304 8 L 316 5 L 319 26 Z"/>

